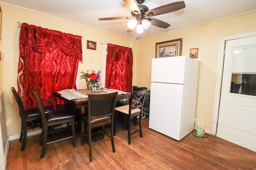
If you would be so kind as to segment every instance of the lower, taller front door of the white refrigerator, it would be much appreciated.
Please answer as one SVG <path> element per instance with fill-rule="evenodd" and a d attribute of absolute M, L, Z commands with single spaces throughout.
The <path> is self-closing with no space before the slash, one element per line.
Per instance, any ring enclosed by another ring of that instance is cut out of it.
<path fill-rule="evenodd" d="M 180 141 L 183 84 L 151 83 L 149 128 Z"/>

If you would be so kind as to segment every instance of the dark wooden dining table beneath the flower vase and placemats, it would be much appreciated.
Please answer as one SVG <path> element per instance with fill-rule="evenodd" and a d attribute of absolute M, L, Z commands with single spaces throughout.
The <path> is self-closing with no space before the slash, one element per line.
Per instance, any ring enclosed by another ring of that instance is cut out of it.
<path fill-rule="evenodd" d="M 87 95 L 86 89 L 78 89 L 77 91 L 80 92 L 81 94 Z M 106 92 L 100 91 L 100 92 L 94 92 L 94 93 L 90 93 L 90 94 L 104 94 L 104 93 L 106 93 Z M 67 104 L 69 104 L 70 106 L 72 106 L 74 109 L 81 108 L 81 113 L 85 113 L 84 107 L 88 106 L 88 97 L 68 100 L 68 99 L 62 97 L 61 94 L 58 93 L 57 91 L 54 91 L 54 95 L 56 97 L 60 98 L 61 100 L 63 100 L 64 102 L 66 102 Z M 119 94 L 119 95 L 117 95 L 117 100 L 128 99 L 128 98 L 130 98 L 130 95 L 131 95 L 131 93 Z"/>

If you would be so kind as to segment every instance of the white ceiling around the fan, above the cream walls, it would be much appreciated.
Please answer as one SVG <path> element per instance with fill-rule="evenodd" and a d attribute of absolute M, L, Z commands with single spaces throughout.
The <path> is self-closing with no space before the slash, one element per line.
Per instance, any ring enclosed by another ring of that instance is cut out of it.
<path fill-rule="evenodd" d="M 146 0 L 149 10 L 179 0 Z M 11 4 L 55 16 L 95 29 L 136 40 L 136 31 L 127 33 L 129 20 L 100 21 L 98 18 L 131 16 L 130 9 L 122 0 L 1 0 Z M 151 25 L 140 34 L 140 39 L 160 35 L 177 29 L 206 23 L 256 10 L 256 0 L 184 0 L 184 9 L 154 16 L 171 26 L 167 29 Z"/>

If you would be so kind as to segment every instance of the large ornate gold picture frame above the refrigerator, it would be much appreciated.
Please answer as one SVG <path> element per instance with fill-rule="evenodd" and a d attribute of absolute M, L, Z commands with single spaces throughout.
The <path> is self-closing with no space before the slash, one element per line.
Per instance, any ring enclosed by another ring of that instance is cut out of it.
<path fill-rule="evenodd" d="M 182 55 L 182 38 L 156 43 L 156 58 Z"/>

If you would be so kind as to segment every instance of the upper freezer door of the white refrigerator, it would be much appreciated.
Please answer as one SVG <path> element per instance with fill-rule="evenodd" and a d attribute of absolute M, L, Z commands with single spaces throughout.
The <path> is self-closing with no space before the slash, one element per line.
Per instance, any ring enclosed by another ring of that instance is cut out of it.
<path fill-rule="evenodd" d="M 152 59 L 152 82 L 185 84 L 186 56 Z"/>

